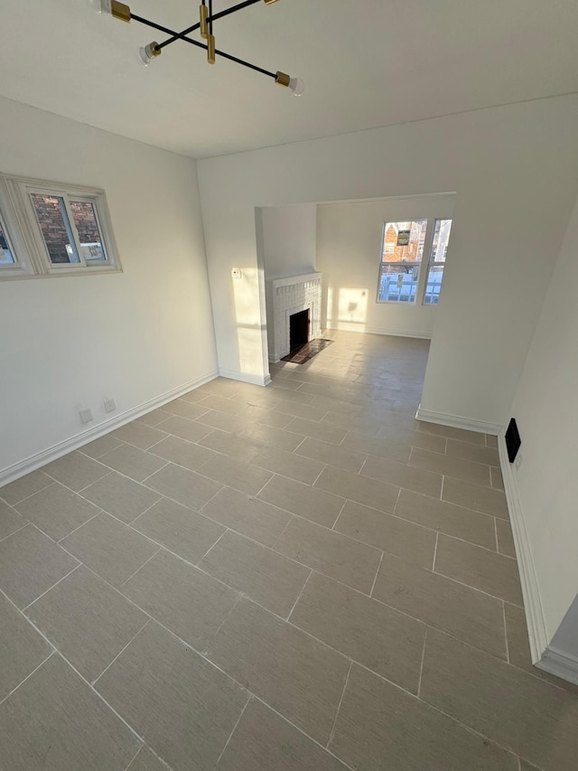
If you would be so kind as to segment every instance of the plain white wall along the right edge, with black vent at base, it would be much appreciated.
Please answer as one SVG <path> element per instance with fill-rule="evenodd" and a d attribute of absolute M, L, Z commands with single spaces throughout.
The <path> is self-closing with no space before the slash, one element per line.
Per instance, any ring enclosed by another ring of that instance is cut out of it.
<path fill-rule="evenodd" d="M 513 474 L 548 641 L 578 592 L 577 287 L 578 204 L 510 410 L 517 420 L 523 458 Z M 564 625 L 556 643 L 578 660 L 578 634 L 568 633 L 571 627 L 578 630 L 578 603 Z"/>

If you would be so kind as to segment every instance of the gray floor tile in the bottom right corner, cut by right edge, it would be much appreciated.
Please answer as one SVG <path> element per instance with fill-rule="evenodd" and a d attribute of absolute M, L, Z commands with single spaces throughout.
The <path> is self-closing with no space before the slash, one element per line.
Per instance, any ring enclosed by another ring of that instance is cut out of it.
<path fill-rule="evenodd" d="M 578 698 L 428 631 L 421 696 L 545 771 L 573 771 Z"/>

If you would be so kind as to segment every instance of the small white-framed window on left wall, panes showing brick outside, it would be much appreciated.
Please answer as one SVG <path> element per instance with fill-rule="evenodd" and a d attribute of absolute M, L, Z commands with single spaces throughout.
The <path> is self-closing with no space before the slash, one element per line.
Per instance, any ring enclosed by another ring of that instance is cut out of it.
<path fill-rule="evenodd" d="M 0 175 L 0 202 L 19 223 L 18 243 L 5 236 L 6 260 L 21 275 L 56 276 L 121 270 L 102 190 Z M 5 232 L 3 227 L 2 232 Z M 14 248 L 15 246 L 15 248 Z M 0 271 L 0 277 L 4 273 Z M 14 270 L 10 277 L 14 277 Z"/>

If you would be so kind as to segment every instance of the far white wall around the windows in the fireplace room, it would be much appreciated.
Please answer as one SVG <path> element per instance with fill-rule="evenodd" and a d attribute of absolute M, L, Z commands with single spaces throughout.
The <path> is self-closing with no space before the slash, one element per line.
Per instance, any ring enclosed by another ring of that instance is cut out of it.
<path fill-rule="evenodd" d="M 433 223 L 435 218 L 451 218 L 453 202 L 452 195 L 429 195 L 318 206 L 317 260 L 323 274 L 327 326 L 431 337 L 436 306 L 422 305 L 421 297 L 412 304 L 376 302 L 383 223 L 417 219 Z M 424 252 L 420 290 L 427 258 Z M 451 269 L 450 242 L 446 274 Z"/>

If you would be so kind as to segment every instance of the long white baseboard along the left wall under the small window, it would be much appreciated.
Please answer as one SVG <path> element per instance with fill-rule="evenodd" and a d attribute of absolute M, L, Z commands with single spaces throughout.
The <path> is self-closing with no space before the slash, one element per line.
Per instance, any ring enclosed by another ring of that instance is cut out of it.
<path fill-rule="evenodd" d="M 214 380 L 218 375 L 219 372 L 217 371 L 211 371 L 207 374 L 200 375 L 200 377 L 195 378 L 192 381 L 182 383 L 182 385 L 177 386 L 177 388 L 165 391 L 160 396 L 154 397 L 154 399 L 144 401 L 137 407 L 126 409 L 125 412 L 121 412 L 113 418 L 103 420 L 102 423 L 98 423 L 98 426 L 86 428 L 79 434 L 75 434 L 74 437 L 63 439 L 56 445 L 52 445 L 38 453 L 34 453 L 34 455 L 24 458 L 24 460 L 21 460 L 14 465 L 7 466 L 7 468 L 0 470 L 0 487 L 9 482 L 14 482 L 14 479 L 19 479 L 25 474 L 30 474 L 31 471 L 35 471 L 42 465 L 46 465 L 61 456 L 67 455 L 72 450 L 77 450 L 79 447 L 82 447 L 89 442 L 93 442 L 99 437 L 103 437 L 109 431 L 120 428 L 126 423 L 130 423 L 131 420 L 135 420 L 135 418 L 140 418 L 141 415 L 151 412 L 153 409 L 163 407 L 163 404 L 167 404 L 169 401 L 177 399 L 179 396 L 182 396 L 183 393 L 199 388 L 199 386 L 204 383 Z"/>

